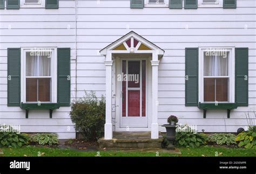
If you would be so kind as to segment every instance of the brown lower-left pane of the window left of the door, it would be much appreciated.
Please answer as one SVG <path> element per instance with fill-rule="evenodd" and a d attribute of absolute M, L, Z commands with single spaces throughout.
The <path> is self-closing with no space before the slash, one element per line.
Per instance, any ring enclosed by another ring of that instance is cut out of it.
<path fill-rule="evenodd" d="M 37 78 L 26 78 L 26 102 L 37 102 Z"/>

